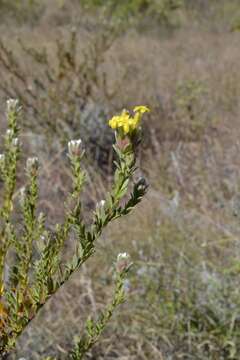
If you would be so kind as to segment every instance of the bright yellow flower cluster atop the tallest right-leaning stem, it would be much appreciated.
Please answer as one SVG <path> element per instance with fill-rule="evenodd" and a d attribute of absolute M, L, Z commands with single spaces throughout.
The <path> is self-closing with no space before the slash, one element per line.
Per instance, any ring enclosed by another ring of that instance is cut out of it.
<path fill-rule="evenodd" d="M 143 105 L 136 106 L 133 109 L 134 116 L 131 116 L 127 110 L 123 110 L 120 115 L 113 116 L 109 120 L 109 126 L 112 129 L 119 130 L 123 135 L 131 134 L 138 128 L 142 115 L 149 111 L 149 108 Z"/>

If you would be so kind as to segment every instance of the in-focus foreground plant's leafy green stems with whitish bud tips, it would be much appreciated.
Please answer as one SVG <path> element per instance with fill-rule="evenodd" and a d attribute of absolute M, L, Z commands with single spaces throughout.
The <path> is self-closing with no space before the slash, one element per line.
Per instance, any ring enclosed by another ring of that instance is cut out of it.
<path fill-rule="evenodd" d="M 5 135 L 4 153 L 0 156 L 3 181 L 0 228 L 0 354 L 4 356 L 15 345 L 17 337 L 38 311 L 95 252 L 95 242 L 103 229 L 113 220 L 128 214 L 144 196 L 147 185 L 140 179 L 133 184 L 129 199 L 130 180 L 136 171 L 135 151 L 139 129 L 125 136 L 114 146 L 116 171 L 112 190 L 93 212 L 91 224 L 84 221 L 80 194 L 86 181 L 82 170 L 84 149 L 81 140 L 68 143 L 72 171 L 72 190 L 65 201 L 65 218 L 50 231 L 45 226 L 46 216 L 38 213 L 37 157 L 26 163 L 26 186 L 19 191 L 21 224 L 14 220 L 14 197 L 17 183 L 17 164 L 20 153 L 17 118 L 21 109 L 18 101 L 8 100 L 9 128 Z M 116 134 L 118 139 L 118 135 Z M 133 141 L 133 138 L 135 139 Z M 69 259 L 63 257 L 64 246 L 71 234 L 75 235 L 75 251 Z M 89 321 L 88 336 L 80 340 L 72 353 L 73 359 L 82 356 L 96 342 L 114 309 L 123 302 L 123 282 L 130 263 L 126 254 L 116 264 L 116 289 L 112 303 L 96 322 Z"/>

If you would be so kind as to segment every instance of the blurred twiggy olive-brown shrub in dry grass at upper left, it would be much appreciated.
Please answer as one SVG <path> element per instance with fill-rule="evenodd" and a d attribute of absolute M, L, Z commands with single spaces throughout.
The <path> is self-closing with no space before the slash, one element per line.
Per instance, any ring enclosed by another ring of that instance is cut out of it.
<path fill-rule="evenodd" d="M 54 58 L 47 48 L 35 49 L 19 40 L 21 56 L 30 64 L 27 67 L 20 61 L 20 53 L 0 41 L 0 65 L 4 70 L 0 88 L 6 97 L 20 99 L 26 129 L 61 145 L 66 139 L 81 135 L 90 144 L 95 160 L 103 164 L 108 160 L 112 142 L 104 119 L 108 114 L 107 103 L 115 96 L 117 86 L 109 92 L 107 73 L 100 73 L 99 68 L 117 29 L 100 30 L 81 54 L 77 34 L 73 28 L 66 41 L 60 37 L 56 40 Z M 101 156 L 97 155 L 99 151 Z"/>

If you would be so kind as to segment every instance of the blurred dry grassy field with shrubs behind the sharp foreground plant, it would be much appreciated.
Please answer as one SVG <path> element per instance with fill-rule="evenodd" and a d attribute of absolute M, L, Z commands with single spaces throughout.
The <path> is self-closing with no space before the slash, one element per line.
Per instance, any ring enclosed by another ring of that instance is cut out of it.
<path fill-rule="evenodd" d="M 86 148 L 88 213 L 113 175 L 107 120 L 151 108 L 139 153 L 147 197 L 104 232 L 12 359 L 66 359 L 111 297 L 123 251 L 134 261 L 128 301 L 88 359 L 240 358 L 239 31 L 239 0 L 0 0 L 0 131 L 5 101 L 19 98 L 22 162 L 40 159 L 50 229 L 70 186 L 68 140 Z"/>

